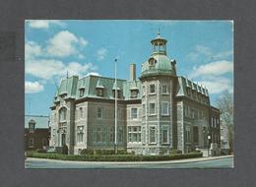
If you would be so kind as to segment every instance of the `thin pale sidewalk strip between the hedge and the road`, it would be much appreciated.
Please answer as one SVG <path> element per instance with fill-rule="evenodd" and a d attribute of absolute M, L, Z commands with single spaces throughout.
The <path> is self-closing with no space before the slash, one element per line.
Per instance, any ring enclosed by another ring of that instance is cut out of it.
<path fill-rule="evenodd" d="M 94 163 L 94 164 L 103 164 L 103 163 L 112 163 L 112 164 L 138 164 L 138 163 L 188 163 L 188 162 L 200 162 L 207 160 L 221 159 L 225 157 L 233 156 L 210 156 L 210 157 L 196 157 L 196 158 L 187 158 L 187 159 L 175 159 L 175 160 L 162 160 L 162 161 L 74 161 L 74 160 L 60 160 L 60 159 L 47 159 L 47 158 L 36 158 L 28 157 L 26 160 L 41 160 L 41 161 L 52 161 L 52 162 L 70 162 L 70 163 Z"/>

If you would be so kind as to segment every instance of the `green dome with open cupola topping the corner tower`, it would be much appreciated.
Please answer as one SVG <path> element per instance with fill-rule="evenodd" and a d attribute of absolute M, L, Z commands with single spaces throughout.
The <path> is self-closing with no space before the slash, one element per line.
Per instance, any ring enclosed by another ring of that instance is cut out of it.
<path fill-rule="evenodd" d="M 175 60 L 171 60 L 166 56 L 166 42 L 167 40 L 158 36 L 151 40 L 152 54 L 150 58 L 142 64 L 141 78 L 149 76 L 175 76 Z"/>

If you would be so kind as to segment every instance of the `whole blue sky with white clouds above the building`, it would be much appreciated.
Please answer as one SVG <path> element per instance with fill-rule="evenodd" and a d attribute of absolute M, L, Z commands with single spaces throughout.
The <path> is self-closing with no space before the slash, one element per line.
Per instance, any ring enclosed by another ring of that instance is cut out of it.
<path fill-rule="evenodd" d="M 151 39 L 167 39 L 167 56 L 178 76 L 209 90 L 211 104 L 233 93 L 233 22 L 171 20 L 27 20 L 25 114 L 48 115 L 62 78 L 89 74 L 129 79 L 129 66 L 151 55 Z"/>

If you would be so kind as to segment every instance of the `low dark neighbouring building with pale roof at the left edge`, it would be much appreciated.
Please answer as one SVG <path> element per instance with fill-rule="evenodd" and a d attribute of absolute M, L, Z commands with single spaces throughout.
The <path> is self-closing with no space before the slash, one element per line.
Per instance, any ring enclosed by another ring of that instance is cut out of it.
<path fill-rule="evenodd" d="M 49 117 L 25 115 L 25 150 L 43 149 L 49 146 Z"/>

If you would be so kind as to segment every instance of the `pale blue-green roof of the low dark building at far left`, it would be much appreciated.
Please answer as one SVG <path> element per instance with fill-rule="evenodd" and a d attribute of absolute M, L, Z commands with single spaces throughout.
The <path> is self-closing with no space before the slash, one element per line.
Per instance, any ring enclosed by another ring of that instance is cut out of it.
<path fill-rule="evenodd" d="M 36 128 L 48 128 L 49 116 L 43 115 L 25 115 L 25 128 L 29 128 L 29 123 L 35 123 Z"/>

